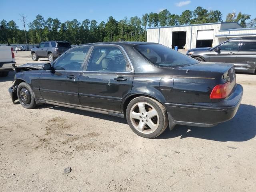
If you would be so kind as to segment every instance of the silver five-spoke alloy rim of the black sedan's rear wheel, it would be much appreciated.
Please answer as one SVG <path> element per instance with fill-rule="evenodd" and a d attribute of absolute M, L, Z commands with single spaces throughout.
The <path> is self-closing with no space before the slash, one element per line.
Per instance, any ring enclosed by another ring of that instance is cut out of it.
<path fill-rule="evenodd" d="M 147 102 L 138 102 L 132 106 L 130 120 L 134 128 L 144 134 L 153 133 L 159 125 L 158 112 Z"/>

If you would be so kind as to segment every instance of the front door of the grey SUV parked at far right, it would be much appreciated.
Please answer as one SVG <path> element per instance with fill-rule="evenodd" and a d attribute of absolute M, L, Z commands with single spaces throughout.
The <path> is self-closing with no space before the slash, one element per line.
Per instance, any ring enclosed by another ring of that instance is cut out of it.
<path fill-rule="evenodd" d="M 220 45 L 219 51 L 212 50 L 210 52 L 210 62 L 235 63 L 238 54 L 239 41 L 229 41 Z"/>

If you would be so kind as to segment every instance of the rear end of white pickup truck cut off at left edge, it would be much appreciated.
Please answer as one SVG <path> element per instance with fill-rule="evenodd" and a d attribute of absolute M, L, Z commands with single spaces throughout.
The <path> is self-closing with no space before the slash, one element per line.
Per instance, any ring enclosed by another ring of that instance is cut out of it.
<path fill-rule="evenodd" d="M 14 52 L 11 46 L 0 46 L 0 77 L 8 76 L 15 67 Z"/>

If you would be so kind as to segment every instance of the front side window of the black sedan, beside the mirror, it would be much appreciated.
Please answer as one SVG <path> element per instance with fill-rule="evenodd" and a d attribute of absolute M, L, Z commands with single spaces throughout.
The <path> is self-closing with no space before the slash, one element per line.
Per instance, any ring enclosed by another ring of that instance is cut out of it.
<path fill-rule="evenodd" d="M 65 52 L 53 64 L 54 70 L 79 71 L 90 47 L 77 47 Z"/>

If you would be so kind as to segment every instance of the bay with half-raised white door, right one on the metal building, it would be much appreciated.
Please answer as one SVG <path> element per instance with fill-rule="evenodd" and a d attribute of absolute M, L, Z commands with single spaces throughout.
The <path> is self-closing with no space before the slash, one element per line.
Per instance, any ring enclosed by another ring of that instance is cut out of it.
<path fill-rule="evenodd" d="M 213 30 L 198 30 L 196 39 L 196 48 L 211 47 L 213 40 Z"/>

